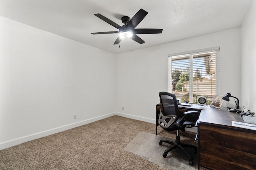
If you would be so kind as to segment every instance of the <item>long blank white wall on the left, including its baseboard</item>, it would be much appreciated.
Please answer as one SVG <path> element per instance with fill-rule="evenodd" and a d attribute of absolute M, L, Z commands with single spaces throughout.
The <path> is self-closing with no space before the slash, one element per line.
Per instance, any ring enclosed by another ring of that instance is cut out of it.
<path fill-rule="evenodd" d="M 0 17 L 0 149 L 114 114 L 115 86 L 116 55 Z"/>

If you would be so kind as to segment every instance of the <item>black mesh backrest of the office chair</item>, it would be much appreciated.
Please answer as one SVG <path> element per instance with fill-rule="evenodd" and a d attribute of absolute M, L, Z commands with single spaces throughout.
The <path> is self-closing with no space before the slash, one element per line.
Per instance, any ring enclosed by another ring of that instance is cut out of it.
<path fill-rule="evenodd" d="M 177 115 L 179 114 L 177 98 L 174 94 L 168 92 L 160 92 L 160 103 L 162 105 L 162 113 L 166 115 Z"/>

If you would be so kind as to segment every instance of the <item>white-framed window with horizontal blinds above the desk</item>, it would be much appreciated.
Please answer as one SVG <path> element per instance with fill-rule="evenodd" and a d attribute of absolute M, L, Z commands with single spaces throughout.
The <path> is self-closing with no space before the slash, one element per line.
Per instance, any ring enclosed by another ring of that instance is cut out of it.
<path fill-rule="evenodd" d="M 196 103 L 197 96 L 207 96 L 210 104 L 220 92 L 219 50 L 212 47 L 168 55 L 168 92 Z"/>

